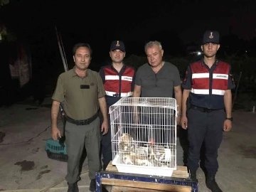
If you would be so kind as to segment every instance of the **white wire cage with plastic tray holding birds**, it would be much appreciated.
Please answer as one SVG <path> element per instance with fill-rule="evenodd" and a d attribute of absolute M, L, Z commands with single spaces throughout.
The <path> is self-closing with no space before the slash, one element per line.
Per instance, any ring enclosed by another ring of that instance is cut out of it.
<path fill-rule="evenodd" d="M 110 106 L 112 164 L 119 172 L 171 176 L 176 117 L 171 97 L 123 97 Z"/>

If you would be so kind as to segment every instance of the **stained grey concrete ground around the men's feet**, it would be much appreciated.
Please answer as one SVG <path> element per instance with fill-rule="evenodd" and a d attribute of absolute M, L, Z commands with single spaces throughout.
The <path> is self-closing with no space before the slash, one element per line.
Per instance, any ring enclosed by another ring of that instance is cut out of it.
<path fill-rule="evenodd" d="M 224 133 L 219 150 L 216 180 L 225 192 L 256 191 L 256 113 L 233 112 L 231 132 Z M 0 108 L 0 191 L 67 191 L 66 163 L 48 159 L 50 99 L 37 107 L 28 100 Z M 63 123 L 58 123 L 63 127 Z M 182 142 L 183 139 L 181 139 Z M 177 161 L 183 165 L 183 149 L 177 140 Z M 82 171 L 87 171 L 85 160 Z M 208 192 L 198 170 L 199 191 Z M 80 191 L 89 191 L 90 180 L 82 174 Z M 54 186 L 53 188 L 50 188 Z"/>

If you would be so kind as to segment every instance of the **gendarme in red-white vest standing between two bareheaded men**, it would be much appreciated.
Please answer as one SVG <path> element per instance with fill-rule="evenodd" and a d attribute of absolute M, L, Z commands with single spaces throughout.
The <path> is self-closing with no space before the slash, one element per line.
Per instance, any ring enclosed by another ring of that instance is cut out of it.
<path fill-rule="evenodd" d="M 112 41 L 110 46 L 112 63 L 100 68 L 100 77 L 106 90 L 107 109 L 122 97 L 131 97 L 134 91 L 136 71 L 123 62 L 125 53 L 125 46 L 122 41 Z M 122 66 L 122 68 L 119 70 L 118 66 Z M 127 108 L 124 107 L 123 109 Z M 110 114 L 108 114 L 108 119 L 110 127 Z M 101 121 L 103 121 L 102 118 Z M 105 170 L 112 161 L 111 131 L 102 136 L 102 157 L 103 170 Z"/>

